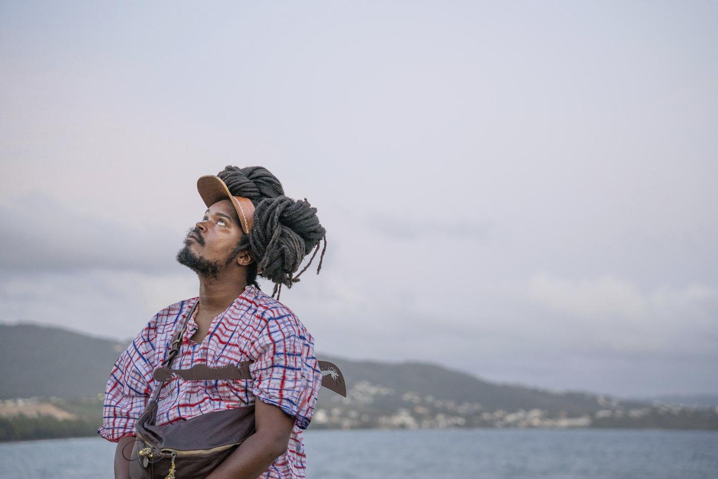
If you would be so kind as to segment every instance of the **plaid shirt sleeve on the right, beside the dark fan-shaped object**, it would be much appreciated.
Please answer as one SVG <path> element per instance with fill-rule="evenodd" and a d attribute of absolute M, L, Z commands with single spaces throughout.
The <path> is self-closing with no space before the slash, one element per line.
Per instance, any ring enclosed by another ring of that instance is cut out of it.
<path fill-rule="evenodd" d="M 299 429 L 307 429 L 322 386 L 314 338 L 286 307 L 267 309 L 263 316 L 267 324 L 254 343 L 256 359 L 249 365 L 252 393 L 293 416 Z"/>

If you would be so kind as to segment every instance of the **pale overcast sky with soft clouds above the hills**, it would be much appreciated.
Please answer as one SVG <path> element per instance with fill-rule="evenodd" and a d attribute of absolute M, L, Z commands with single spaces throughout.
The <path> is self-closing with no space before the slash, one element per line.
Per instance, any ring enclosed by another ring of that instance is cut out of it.
<path fill-rule="evenodd" d="M 199 293 L 174 259 L 197 178 L 261 165 L 327 229 L 320 274 L 280 299 L 317 357 L 716 394 L 717 20 L 707 1 L 3 1 L 1 321 L 134 337 Z"/>

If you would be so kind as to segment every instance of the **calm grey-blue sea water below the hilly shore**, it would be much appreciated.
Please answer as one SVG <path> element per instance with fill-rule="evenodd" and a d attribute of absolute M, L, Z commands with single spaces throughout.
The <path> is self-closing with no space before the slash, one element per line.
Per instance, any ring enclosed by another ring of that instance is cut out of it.
<path fill-rule="evenodd" d="M 0 444 L 2 479 L 113 478 L 100 437 Z M 718 431 L 304 431 L 308 479 L 718 479 Z"/>

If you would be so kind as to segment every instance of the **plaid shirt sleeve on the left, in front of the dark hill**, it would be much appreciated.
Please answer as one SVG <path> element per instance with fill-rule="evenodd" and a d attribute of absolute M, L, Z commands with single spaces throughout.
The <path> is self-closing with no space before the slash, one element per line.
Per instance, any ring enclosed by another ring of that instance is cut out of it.
<path fill-rule="evenodd" d="M 102 426 L 97 430 L 110 442 L 136 435 L 135 423 L 149 402 L 158 316 L 159 313 L 137 334 L 110 372 L 102 407 Z"/>

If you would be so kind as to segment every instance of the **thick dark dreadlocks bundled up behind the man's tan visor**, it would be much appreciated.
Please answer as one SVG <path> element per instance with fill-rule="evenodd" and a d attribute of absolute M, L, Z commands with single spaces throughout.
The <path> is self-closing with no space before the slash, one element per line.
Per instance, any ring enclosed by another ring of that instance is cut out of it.
<path fill-rule="evenodd" d="M 249 235 L 242 234 L 236 252 L 249 249 L 254 263 L 248 266 L 247 282 L 259 288 L 256 275 L 274 283 L 272 297 L 279 299 L 281 285 L 292 288 L 299 282 L 317 255 L 324 239 L 317 274 L 327 250 L 326 230 L 317 218 L 317 209 L 304 201 L 284 195 L 284 188 L 276 178 L 261 166 L 238 168 L 228 165 L 217 174 L 225 182 L 233 196 L 244 196 L 254 205 L 253 226 Z M 293 276 L 302 260 L 314 248 L 309 263 L 298 275 Z"/>

